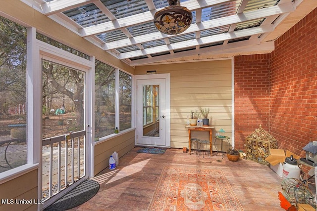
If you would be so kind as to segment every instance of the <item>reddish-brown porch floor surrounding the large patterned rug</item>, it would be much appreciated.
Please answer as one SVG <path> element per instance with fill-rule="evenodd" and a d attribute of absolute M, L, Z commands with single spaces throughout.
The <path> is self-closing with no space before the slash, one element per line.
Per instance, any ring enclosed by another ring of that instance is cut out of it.
<path fill-rule="evenodd" d="M 138 149 L 121 157 L 116 169 L 105 169 L 93 178 L 101 185 L 99 192 L 72 211 L 146 211 L 168 165 L 221 169 L 245 211 L 284 210 L 277 194 L 282 192 L 282 178 L 268 166 L 244 159 L 231 162 L 215 153 L 203 158 L 182 149 L 167 149 L 164 155 L 137 153 Z"/>

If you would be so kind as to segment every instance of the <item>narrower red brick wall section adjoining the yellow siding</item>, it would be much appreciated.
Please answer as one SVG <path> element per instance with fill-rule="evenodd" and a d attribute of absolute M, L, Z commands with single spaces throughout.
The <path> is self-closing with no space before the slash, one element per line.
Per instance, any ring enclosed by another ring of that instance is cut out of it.
<path fill-rule="evenodd" d="M 246 137 L 256 128 L 268 130 L 269 54 L 234 57 L 234 140 L 245 151 Z"/>

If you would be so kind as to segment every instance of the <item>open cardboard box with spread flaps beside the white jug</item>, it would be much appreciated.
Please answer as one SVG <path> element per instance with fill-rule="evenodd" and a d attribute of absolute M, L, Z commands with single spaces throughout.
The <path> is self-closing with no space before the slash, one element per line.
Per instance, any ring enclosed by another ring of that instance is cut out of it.
<path fill-rule="evenodd" d="M 269 149 L 270 155 L 265 158 L 265 161 L 267 161 L 270 164 L 270 168 L 277 173 L 280 177 L 283 176 L 283 163 L 285 161 L 285 158 L 291 157 L 293 155 L 293 158 L 300 159 L 301 157 L 286 150 L 286 155 L 283 149 Z"/>

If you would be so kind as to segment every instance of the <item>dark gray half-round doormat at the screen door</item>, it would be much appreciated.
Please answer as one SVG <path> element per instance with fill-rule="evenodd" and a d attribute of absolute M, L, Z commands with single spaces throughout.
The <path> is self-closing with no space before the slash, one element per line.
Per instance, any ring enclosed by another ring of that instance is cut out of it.
<path fill-rule="evenodd" d="M 46 211 L 65 211 L 84 204 L 96 195 L 100 188 L 98 182 L 87 179 L 62 198 L 58 199 Z"/>

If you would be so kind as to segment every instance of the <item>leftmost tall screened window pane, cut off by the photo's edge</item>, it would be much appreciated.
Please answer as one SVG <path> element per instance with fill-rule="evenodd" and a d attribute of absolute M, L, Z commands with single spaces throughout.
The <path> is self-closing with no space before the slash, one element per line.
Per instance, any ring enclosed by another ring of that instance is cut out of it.
<path fill-rule="evenodd" d="M 0 16 L 0 173 L 26 164 L 26 28 Z"/>

